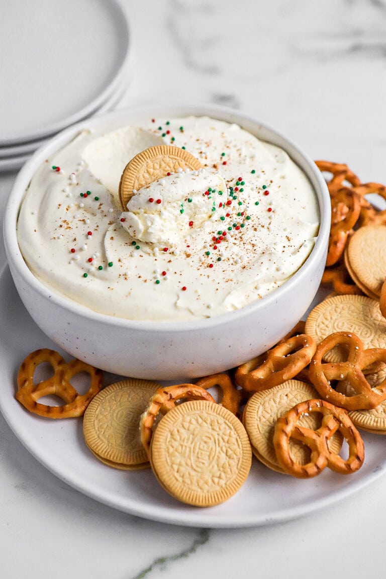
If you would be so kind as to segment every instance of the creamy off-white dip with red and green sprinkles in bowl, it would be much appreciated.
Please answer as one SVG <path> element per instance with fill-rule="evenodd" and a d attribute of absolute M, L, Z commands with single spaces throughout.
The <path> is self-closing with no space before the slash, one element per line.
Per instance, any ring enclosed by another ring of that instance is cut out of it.
<path fill-rule="evenodd" d="M 160 144 L 185 148 L 203 169 L 165 175 L 122 208 L 124 167 Z M 80 131 L 32 177 L 17 237 L 32 273 L 69 300 L 129 320 L 188 321 L 280 287 L 318 228 L 314 189 L 282 149 L 189 116 Z"/>

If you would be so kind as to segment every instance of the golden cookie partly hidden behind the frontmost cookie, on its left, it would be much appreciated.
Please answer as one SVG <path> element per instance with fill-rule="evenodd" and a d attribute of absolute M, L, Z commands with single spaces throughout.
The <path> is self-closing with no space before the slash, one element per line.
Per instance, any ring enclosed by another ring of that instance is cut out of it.
<path fill-rule="evenodd" d="M 84 441 L 102 463 L 120 470 L 150 466 L 139 436 L 139 419 L 159 386 L 128 378 L 107 386 L 91 401 L 84 413 Z"/>

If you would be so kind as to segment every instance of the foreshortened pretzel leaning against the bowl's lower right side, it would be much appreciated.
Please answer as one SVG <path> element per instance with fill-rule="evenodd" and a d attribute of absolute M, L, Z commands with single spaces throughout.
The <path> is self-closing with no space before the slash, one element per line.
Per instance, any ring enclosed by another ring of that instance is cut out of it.
<path fill-rule="evenodd" d="M 300 334 L 245 362 L 236 369 L 235 379 L 244 390 L 261 392 L 294 378 L 310 363 L 316 350 L 311 336 Z"/>

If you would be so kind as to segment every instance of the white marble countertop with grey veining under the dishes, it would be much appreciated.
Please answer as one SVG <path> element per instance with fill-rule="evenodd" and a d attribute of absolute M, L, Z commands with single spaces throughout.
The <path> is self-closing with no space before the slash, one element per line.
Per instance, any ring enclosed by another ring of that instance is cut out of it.
<path fill-rule="evenodd" d="M 386 182 L 386 0 L 126 0 L 124 7 L 133 79 L 120 108 L 227 105 L 280 130 L 314 159 L 348 163 L 364 182 Z M 15 176 L 0 174 L 1 216 Z M 0 415 L 2 579 L 380 577 L 385 511 L 380 477 L 340 503 L 276 525 L 222 530 L 146 521 L 54 477 Z"/>

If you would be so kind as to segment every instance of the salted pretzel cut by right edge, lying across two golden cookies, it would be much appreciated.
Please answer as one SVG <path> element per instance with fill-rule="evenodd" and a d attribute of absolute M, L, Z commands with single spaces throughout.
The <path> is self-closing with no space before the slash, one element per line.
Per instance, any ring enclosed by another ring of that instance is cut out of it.
<path fill-rule="evenodd" d="M 346 346 L 347 361 L 323 362 L 325 354 L 335 346 Z M 386 399 L 386 380 L 373 390 L 362 372 L 374 362 L 386 362 L 386 350 L 373 348 L 363 350 L 361 339 L 348 332 L 335 332 L 318 344 L 311 360 L 309 376 L 322 398 L 348 411 L 370 410 Z M 344 380 L 356 394 L 346 396 L 337 392 L 331 382 Z"/>

